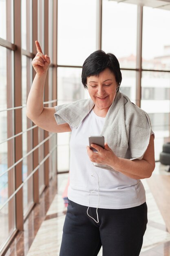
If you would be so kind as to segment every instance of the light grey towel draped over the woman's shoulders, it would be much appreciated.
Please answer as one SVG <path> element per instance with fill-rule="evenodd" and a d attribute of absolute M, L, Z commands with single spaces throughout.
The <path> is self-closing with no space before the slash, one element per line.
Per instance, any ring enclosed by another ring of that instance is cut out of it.
<path fill-rule="evenodd" d="M 94 105 L 91 99 L 82 99 L 56 106 L 55 120 L 57 124 L 68 123 L 77 128 Z M 101 132 L 108 146 L 118 157 L 142 159 L 149 144 L 150 134 L 151 124 L 148 114 L 133 104 L 126 95 L 117 92 Z"/>

